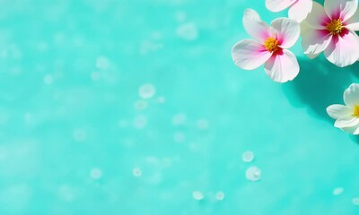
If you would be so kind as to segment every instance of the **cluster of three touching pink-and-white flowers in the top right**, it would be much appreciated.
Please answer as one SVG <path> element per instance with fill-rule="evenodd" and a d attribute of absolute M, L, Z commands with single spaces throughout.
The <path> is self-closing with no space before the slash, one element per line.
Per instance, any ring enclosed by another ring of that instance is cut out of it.
<path fill-rule="evenodd" d="M 288 48 L 300 36 L 303 53 L 311 59 L 323 52 L 338 67 L 359 59 L 355 33 L 359 30 L 358 0 L 325 0 L 324 6 L 312 0 L 266 0 L 266 6 L 272 12 L 289 8 L 289 18 L 278 18 L 268 25 L 254 10 L 244 12 L 243 26 L 253 39 L 243 39 L 232 47 L 234 64 L 241 69 L 264 64 L 273 81 L 292 81 L 300 66 Z"/>

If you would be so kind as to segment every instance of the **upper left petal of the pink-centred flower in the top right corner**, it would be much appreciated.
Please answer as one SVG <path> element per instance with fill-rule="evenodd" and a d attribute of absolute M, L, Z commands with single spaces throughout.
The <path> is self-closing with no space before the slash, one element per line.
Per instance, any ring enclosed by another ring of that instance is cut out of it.
<path fill-rule="evenodd" d="M 324 7 L 317 2 L 313 2 L 312 4 L 311 13 L 308 14 L 305 21 L 308 22 L 308 25 L 313 29 L 326 30 L 327 23 L 330 22 L 330 19 Z"/>

